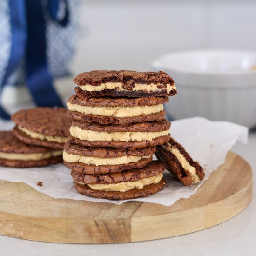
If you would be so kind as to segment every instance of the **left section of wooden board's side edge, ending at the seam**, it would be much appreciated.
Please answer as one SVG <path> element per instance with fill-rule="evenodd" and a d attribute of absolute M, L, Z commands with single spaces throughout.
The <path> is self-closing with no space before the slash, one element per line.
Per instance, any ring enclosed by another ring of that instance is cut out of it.
<path fill-rule="evenodd" d="M 24 223 L 28 225 L 24 227 Z M 50 219 L 0 212 L 0 235 L 31 241 L 76 244 L 128 243 L 131 242 L 130 230 L 131 222 L 127 219 Z"/>

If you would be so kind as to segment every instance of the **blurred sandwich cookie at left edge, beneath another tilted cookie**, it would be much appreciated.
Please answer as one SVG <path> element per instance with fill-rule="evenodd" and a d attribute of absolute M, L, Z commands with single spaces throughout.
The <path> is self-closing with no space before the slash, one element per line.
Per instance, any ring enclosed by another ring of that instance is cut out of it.
<path fill-rule="evenodd" d="M 0 165 L 14 168 L 39 167 L 62 162 L 62 150 L 27 145 L 11 131 L 0 132 Z"/>

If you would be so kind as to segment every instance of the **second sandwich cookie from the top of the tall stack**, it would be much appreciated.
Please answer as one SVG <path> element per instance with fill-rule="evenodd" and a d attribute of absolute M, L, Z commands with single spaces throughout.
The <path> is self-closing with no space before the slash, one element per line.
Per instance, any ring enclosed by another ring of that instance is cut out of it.
<path fill-rule="evenodd" d="M 129 124 L 146 121 L 161 121 L 165 116 L 165 97 L 148 98 L 89 98 L 73 95 L 67 102 L 67 115 L 76 121 L 101 124 Z"/>

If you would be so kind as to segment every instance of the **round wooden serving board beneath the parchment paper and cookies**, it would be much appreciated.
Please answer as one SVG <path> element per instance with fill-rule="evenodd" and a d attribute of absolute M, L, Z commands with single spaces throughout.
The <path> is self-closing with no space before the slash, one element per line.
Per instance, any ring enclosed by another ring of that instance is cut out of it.
<path fill-rule="evenodd" d="M 54 243 L 123 243 L 207 229 L 243 211 L 252 171 L 240 156 L 226 162 L 188 199 L 170 207 L 53 199 L 22 182 L 0 181 L 0 234 Z"/>

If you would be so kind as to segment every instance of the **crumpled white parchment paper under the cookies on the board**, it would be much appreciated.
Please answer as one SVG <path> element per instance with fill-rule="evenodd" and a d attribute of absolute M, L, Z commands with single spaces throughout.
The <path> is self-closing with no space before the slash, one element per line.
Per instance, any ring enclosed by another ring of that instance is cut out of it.
<path fill-rule="evenodd" d="M 3 129 L 6 128 L 1 125 L 1 130 Z M 167 187 L 155 195 L 132 201 L 169 206 L 180 198 L 188 198 L 209 178 L 212 171 L 224 163 L 227 152 L 236 141 L 247 143 L 248 139 L 248 128 L 244 126 L 230 122 L 209 121 L 200 117 L 172 121 L 170 133 L 176 141 L 183 145 L 195 161 L 200 162 L 205 169 L 205 179 L 197 184 L 184 187 L 181 182 L 172 180 L 170 173 L 165 171 Z M 0 167 L 0 179 L 10 182 L 25 182 L 34 189 L 54 198 L 116 204 L 130 201 L 98 199 L 79 194 L 70 176 L 70 169 L 63 164 L 25 169 Z M 42 187 L 37 186 L 39 181 L 43 182 Z"/>

